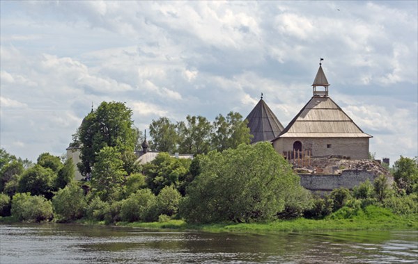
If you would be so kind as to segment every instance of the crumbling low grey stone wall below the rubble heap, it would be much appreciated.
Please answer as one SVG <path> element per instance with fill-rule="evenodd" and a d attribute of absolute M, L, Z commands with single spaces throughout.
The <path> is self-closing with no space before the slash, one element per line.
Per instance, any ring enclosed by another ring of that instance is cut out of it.
<path fill-rule="evenodd" d="M 365 170 L 344 170 L 341 174 L 299 174 L 300 185 L 308 190 L 332 191 L 336 188 L 348 188 L 359 185 L 369 179 L 371 183 L 378 177 L 373 172 Z M 388 177 L 388 184 L 392 185 L 393 178 Z"/>

